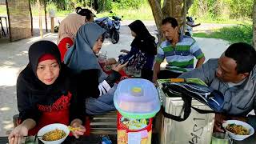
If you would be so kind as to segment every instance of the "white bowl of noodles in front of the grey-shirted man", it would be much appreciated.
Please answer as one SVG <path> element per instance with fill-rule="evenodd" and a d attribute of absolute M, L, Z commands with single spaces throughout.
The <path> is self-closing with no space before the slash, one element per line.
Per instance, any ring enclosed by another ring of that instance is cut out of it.
<path fill-rule="evenodd" d="M 254 134 L 254 128 L 246 122 L 238 120 L 228 120 L 222 124 L 230 138 L 242 141 Z"/>

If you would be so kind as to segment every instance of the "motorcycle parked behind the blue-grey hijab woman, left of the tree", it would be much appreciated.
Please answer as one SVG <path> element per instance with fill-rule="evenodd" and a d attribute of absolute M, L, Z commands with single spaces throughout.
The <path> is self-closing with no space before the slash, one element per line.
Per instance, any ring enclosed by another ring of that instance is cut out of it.
<path fill-rule="evenodd" d="M 110 13 L 113 13 L 113 12 L 110 11 Z M 94 20 L 94 22 L 106 30 L 106 38 L 110 38 L 110 41 L 113 44 L 115 44 L 115 43 L 118 43 L 119 41 L 119 29 L 121 25 L 120 21 L 122 19 L 119 18 L 118 16 L 112 16 L 111 18 L 109 17 L 98 18 Z"/>

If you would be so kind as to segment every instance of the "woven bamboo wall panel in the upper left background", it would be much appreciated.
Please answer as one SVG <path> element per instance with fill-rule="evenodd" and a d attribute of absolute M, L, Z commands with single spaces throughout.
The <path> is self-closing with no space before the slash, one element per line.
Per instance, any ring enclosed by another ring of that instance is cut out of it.
<path fill-rule="evenodd" d="M 30 38 L 30 3 L 29 0 L 7 0 L 7 11 L 10 26 L 10 40 Z"/>

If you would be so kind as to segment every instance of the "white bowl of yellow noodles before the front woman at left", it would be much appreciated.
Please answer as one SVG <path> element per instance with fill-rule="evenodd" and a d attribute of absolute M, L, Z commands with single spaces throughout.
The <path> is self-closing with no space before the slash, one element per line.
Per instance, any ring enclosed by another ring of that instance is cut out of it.
<path fill-rule="evenodd" d="M 68 126 L 61 123 L 54 123 L 42 127 L 38 131 L 38 138 L 45 144 L 59 144 L 64 142 L 70 134 Z"/>

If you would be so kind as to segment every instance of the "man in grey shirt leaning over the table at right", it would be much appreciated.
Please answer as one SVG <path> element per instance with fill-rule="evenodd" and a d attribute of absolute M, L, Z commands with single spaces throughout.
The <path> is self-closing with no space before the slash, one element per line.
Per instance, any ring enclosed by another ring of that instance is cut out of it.
<path fill-rule="evenodd" d="M 256 117 L 246 115 L 256 110 L 256 51 L 246 43 L 230 45 L 220 58 L 208 60 L 198 69 L 182 74 L 179 78 L 200 78 L 214 90 L 224 95 L 224 110 L 230 115 L 216 114 L 215 131 L 227 119 L 240 119 L 256 128 Z M 239 118 L 238 118 L 239 116 Z M 242 116 L 242 118 L 241 118 Z"/>

